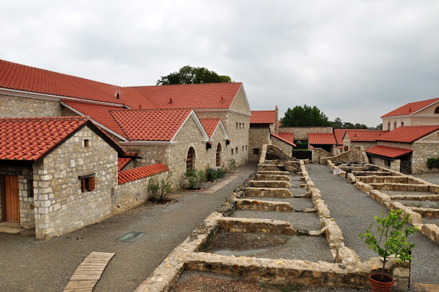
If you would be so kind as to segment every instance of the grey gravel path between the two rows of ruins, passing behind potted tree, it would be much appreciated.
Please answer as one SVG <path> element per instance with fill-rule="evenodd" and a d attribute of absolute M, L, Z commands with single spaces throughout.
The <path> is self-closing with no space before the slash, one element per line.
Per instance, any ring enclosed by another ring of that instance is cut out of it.
<path fill-rule="evenodd" d="M 342 229 L 345 245 L 355 249 L 361 260 L 376 256 L 357 234 L 374 223 L 374 216 L 380 216 L 381 212 L 388 214 L 388 209 L 358 190 L 352 183 L 339 175 L 333 175 L 327 166 L 310 164 L 307 170 L 316 187 L 320 189 L 331 216 Z M 416 243 L 411 282 L 439 284 L 439 244 L 420 232 L 410 236 L 410 241 Z"/>

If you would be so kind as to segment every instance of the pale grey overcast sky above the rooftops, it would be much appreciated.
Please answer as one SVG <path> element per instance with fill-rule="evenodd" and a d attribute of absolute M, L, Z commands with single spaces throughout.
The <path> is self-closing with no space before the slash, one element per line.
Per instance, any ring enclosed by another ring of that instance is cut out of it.
<path fill-rule="evenodd" d="M 252 110 L 316 105 L 377 126 L 439 97 L 439 1 L 5 1 L 0 58 L 119 86 L 180 67 L 243 82 Z"/>

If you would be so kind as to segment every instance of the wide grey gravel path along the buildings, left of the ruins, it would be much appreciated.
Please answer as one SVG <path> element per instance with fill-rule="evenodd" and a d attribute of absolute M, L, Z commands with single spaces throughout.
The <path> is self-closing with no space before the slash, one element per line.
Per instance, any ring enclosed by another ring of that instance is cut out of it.
<path fill-rule="evenodd" d="M 238 168 L 241 175 L 214 194 L 177 192 L 176 203 L 144 204 L 51 240 L 23 232 L 0 234 L 0 291 L 62 291 L 92 251 L 115 253 L 93 291 L 134 291 L 255 170 L 256 164 Z M 212 186 L 203 184 L 205 189 Z M 117 240 L 128 232 L 145 236 Z"/>

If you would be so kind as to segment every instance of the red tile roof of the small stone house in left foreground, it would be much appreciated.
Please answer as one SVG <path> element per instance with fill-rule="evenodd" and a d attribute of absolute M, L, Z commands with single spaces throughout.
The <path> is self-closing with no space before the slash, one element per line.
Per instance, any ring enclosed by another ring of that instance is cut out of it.
<path fill-rule="evenodd" d="M 0 159 L 36 161 L 87 120 L 87 117 L 0 118 Z"/>

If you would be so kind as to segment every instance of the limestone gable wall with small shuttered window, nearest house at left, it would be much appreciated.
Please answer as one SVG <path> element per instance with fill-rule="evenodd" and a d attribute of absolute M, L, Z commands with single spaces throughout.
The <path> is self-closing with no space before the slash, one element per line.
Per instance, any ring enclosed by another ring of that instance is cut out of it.
<path fill-rule="evenodd" d="M 92 174 L 95 190 L 82 192 L 78 177 Z M 116 150 L 90 128 L 82 128 L 34 164 L 36 237 L 51 238 L 108 218 L 116 185 Z"/>

